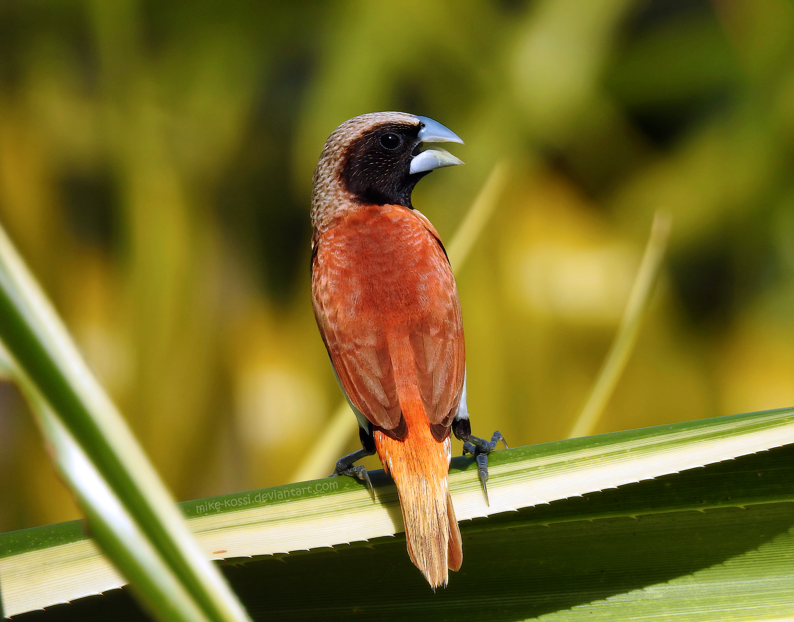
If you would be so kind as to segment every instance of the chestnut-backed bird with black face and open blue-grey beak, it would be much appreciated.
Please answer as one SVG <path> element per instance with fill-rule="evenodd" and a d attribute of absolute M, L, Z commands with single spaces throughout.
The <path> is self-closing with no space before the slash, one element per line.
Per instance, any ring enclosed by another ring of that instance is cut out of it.
<path fill-rule="evenodd" d="M 475 455 L 486 499 L 488 453 L 503 438 L 471 434 L 455 278 L 441 237 L 411 205 L 419 179 L 463 162 L 426 143 L 463 141 L 433 119 L 400 112 L 353 117 L 331 133 L 314 171 L 311 289 L 362 446 L 332 475 L 372 490 L 354 463 L 379 455 L 397 487 L 410 560 L 435 590 L 463 562 L 450 431 Z"/>

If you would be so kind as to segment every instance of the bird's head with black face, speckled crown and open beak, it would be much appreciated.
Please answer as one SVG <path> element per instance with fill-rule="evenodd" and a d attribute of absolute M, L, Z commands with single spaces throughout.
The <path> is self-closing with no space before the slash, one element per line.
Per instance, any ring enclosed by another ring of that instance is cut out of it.
<path fill-rule="evenodd" d="M 369 113 L 345 121 L 326 140 L 314 171 L 312 220 L 315 227 L 339 205 L 405 205 L 419 179 L 463 162 L 423 143 L 461 143 L 433 119 L 413 114 Z"/>

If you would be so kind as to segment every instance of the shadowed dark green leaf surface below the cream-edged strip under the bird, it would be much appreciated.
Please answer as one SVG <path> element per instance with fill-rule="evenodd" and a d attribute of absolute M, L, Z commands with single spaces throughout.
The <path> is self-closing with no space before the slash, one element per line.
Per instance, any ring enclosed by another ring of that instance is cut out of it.
<path fill-rule="evenodd" d="M 436 593 L 403 537 L 238 559 L 227 576 L 257 620 L 787 620 L 792 449 L 461 524 L 463 567 Z M 745 508 L 725 499 L 737 484 Z"/>

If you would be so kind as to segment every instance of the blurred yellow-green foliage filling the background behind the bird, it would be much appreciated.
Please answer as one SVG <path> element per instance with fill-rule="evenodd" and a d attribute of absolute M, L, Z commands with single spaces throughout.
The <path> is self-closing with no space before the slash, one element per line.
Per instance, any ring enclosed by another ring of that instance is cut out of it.
<path fill-rule="evenodd" d="M 466 140 L 414 193 L 445 239 L 514 164 L 458 278 L 476 433 L 566 436 L 656 209 L 669 262 L 597 431 L 794 403 L 790 2 L 6 0 L 0 219 L 177 497 L 287 481 L 336 408 L 311 173 L 385 109 Z M 0 530 L 78 516 L 0 401 Z"/>

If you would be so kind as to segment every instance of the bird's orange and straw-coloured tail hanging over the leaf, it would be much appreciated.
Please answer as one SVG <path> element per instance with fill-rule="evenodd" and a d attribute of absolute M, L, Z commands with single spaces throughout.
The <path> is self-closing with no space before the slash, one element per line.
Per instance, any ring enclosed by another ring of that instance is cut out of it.
<path fill-rule="evenodd" d="M 408 555 L 433 589 L 446 586 L 449 570 L 463 562 L 461 532 L 449 497 L 449 436 L 441 442 L 430 432 L 415 382 L 398 382 L 400 406 L 408 433 L 395 440 L 375 432 L 375 445 L 384 469 L 397 485 L 403 509 Z"/>

